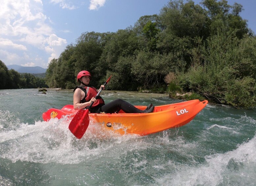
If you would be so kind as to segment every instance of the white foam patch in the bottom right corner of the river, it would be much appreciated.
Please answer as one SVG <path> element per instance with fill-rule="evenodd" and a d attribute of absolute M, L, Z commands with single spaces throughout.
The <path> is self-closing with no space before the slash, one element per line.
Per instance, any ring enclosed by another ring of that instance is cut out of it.
<path fill-rule="evenodd" d="M 219 185 L 228 182 L 228 177 L 236 177 L 236 181 L 246 181 L 254 185 L 256 174 L 256 136 L 247 143 L 241 144 L 237 149 L 224 154 L 206 156 L 206 162 L 198 167 L 177 165 L 169 162 L 173 172 L 162 178 L 156 178 L 158 184 L 163 185 Z M 227 169 L 229 162 L 234 161 L 240 168 L 232 172 Z M 244 178 L 244 179 L 243 179 Z M 248 179 L 249 178 L 249 179 Z M 226 185 L 226 184 L 224 184 Z"/>

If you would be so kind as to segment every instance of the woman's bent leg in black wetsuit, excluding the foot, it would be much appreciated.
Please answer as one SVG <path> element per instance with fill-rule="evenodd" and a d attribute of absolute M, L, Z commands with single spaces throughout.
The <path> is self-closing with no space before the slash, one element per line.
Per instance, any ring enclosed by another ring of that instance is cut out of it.
<path fill-rule="evenodd" d="M 105 113 L 118 113 L 120 110 L 123 110 L 125 113 L 142 113 L 143 111 L 140 109 L 137 109 L 130 103 L 122 100 L 122 99 L 116 99 L 114 101 L 111 101 L 105 105 L 103 105 L 98 112 L 105 112 Z"/>

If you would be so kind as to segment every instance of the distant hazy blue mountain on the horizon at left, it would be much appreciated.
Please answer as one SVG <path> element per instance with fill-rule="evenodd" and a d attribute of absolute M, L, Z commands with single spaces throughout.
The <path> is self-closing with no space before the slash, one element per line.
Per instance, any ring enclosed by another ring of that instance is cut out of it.
<path fill-rule="evenodd" d="M 42 68 L 40 66 L 19 66 L 19 65 L 7 65 L 8 69 L 14 69 L 19 73 L 31 73 L 39 74 L 45 73 L 47 68 Z"/>

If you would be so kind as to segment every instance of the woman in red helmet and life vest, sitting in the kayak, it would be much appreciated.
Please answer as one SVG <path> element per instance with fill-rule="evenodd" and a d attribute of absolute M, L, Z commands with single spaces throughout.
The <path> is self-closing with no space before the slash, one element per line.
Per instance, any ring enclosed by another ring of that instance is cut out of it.
<path fill-rule="evenodd" d="M 118 113 L 121 109 L 125 113 L 151 113 L 154 111 L 155 107 L 152 104 L 145 110 L 140 110 L 122 99 L 116 99 L 107 104 L 104 103 L 101 97 L 95 99 L 100 89 L 97 91 L 94 87 L 88 86 L 91 78 L 90 72 L 86 70 L 77 74 L 77 81 L 80 82 L 80 86 L 74 89 L 73 104 L 75 110 L 86 109 L 93 101 L 94 103 L 90 109 L 91 113 Z M 105 88 L 104 85 L 101 85 L 101 87 Z"/>

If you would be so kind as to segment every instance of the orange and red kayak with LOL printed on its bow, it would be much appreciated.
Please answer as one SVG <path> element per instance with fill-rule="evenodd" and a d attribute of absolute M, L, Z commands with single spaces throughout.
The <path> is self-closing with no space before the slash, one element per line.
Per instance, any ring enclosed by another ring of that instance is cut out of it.
<path fill-rule="evenodd" d="M 99 123 L 103 128 L 120 134 L 148 135 L 173 127 L 181 127 L 191 121 L 206 105 L 208 101 L 198 99 L 155 106 L 152 113 L 124 113 L 122 110 L 115 114 L 89 113 L 92 123 Z M 144 110 L 146 106 L 135 106 Z M 61 119 L 63 116 L 73 118 L 77 113 L 73 105 L 66 105 L 62 109 L 49 109 L 43 113 L 43 120 Z"/>

